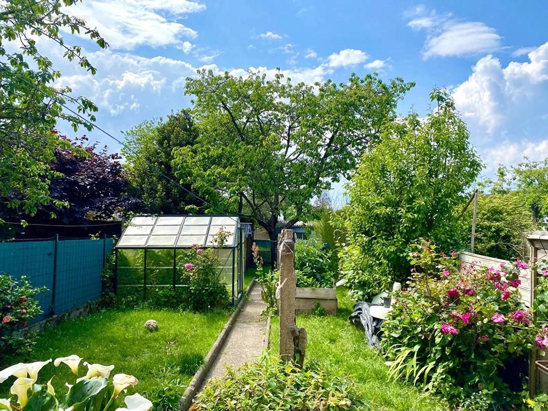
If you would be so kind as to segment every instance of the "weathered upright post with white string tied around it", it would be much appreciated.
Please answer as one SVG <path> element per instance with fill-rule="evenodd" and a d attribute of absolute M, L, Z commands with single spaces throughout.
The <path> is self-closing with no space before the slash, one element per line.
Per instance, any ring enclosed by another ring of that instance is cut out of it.
<path fill-rule="evenodd" d="M 278 239 L 279 261 L 279 356 L 285 361 L 295 358 L 295 298 L 297 278 L 294 266 L 293 230 L 282 230 Z"/>

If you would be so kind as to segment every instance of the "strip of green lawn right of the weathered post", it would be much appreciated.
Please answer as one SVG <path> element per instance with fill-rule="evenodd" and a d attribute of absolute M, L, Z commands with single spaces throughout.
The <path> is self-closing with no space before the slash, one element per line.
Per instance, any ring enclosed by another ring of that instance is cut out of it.
<path fill-rule="evenodd" d="M 337 317 L 297 317 L 297 325 L 306 328 L 308 333 L 305 361 L 316 359 L 323 367 L 348 376 L 363 391 L 372 410 L 448 410 L 448 406 L 437 398 L 426 396 L 412 386 L 389 381 L 384 359 L 367 346 L 363 332 L 348 321 L 353 302 L 346 290 L 339 288 L 337 297 Z M 271 350 L 278 353 L 278 317 L 272 318 L 271 325 Z"/>

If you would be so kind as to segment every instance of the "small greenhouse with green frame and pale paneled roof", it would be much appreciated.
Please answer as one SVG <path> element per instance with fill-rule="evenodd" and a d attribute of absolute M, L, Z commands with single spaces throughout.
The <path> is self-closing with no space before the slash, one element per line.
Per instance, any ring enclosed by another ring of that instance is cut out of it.
<path fill-rule="evenodd" d="M 218 245 L 218 233 L 225 241 Z M 159 215 L 130 221 L 115 248 L 115 290 L 118 295 L 146 299 L 159 289 L 188 287 L 182 283 L 181 249 L 215 248 L 219 274 L 232 304 L 243 293 L 243 227 L 238 216 Z"/>

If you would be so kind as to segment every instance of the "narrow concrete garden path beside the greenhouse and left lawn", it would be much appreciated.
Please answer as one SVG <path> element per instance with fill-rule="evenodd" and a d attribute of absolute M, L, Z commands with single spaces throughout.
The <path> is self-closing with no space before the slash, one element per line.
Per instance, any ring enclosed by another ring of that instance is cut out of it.
<path fill-rule="evenodd" d="M 238 368 L 246 362 L 255 361 L 256 357 L 262 354 L 266 321 L 261 318 L 260 313 L 266 306 L 261 300 L 261 287 L 256 283 L 252 287 L 248 300 L 236 318 L 232 332 L 209 370 L 206 380 L 224 376 L 225 364 Z"/>

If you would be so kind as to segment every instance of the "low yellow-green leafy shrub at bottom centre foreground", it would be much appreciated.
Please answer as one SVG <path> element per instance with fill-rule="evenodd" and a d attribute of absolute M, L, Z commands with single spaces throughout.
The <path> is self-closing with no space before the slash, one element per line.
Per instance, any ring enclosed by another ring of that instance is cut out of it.
<path fill-rule="evenodd" d="M 190 409 L 361 411 L 369 408 L 362 398 L 351 381 L 316 363 L 301 370 L 264 355 L 257 363 L 227 370 L 223 379 L 209 380 Z"/>

